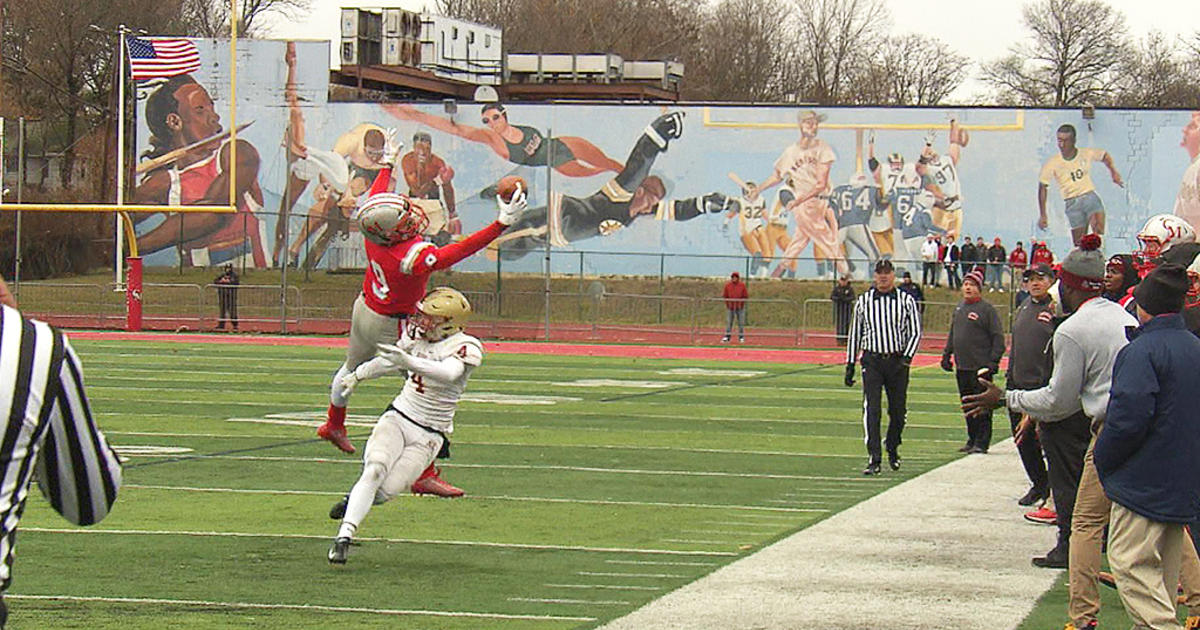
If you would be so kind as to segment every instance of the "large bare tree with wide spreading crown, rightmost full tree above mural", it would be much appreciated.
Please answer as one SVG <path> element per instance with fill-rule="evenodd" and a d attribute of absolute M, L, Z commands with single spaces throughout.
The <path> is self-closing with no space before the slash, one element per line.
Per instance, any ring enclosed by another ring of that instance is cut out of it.
<path fill-rule="evenodd" d="M 1128 43 L 1124 16 L 1102 0 L 1037 0 L 1021 20 L 1030 40 L 984 64 L 983 80 L 998 101 L 1081 106 L 1106 102 Z"/>

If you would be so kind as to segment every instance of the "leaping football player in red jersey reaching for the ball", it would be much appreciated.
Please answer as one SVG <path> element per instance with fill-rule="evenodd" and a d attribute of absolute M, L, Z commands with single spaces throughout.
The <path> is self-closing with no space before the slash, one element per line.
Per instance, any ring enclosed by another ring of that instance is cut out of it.
<path fill-rule="evenodd" d="M 342 394 L 342 377 L 374 356 L 380 343 L 395 343 L 400 338 L 404 319 L 416 311 L 416 302 L 425 295 L 430 274 L 481 250 L 512 224 L 526 208 L 526 191 L 518 187 L 509 202 L 497 197 L 500 211 L 494 222 L 458 242 L 436 246 L 421 235 L 428 218 L 420 206 L 403 194 L 388 192 L 394 185 L 392 168 L 402 144 L 395 140 L 394 131 L 390 134 L 383 168 L 371 185 L 367 200 L 354 216 L 365 239 L 367 270 L 362 277 L 362 293 L 354 300 L 346 362 L 334 374 L 328 418 L 317 428 L 317 436 L 344 452 L 354 452 L 354 445 L 346 436 L 349 397 Z M 434 487 L 428 487 L 431 485 Z M 432 466 L 413 488 L 426 488 L 442 496 L 462 494 L 458 488 L 438 479 Z"/>

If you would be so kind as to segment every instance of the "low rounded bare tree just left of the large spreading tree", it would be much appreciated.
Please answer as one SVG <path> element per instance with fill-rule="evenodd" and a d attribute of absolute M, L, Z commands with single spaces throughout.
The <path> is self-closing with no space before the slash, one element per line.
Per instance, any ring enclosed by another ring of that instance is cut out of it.
<path fill-rule="evenodd" d="M 854 104 L 932 106 L 967 76 L 971 61 L 928 35 L 887 37 L 872 56 L 852 68 L 845 102 Z"/>

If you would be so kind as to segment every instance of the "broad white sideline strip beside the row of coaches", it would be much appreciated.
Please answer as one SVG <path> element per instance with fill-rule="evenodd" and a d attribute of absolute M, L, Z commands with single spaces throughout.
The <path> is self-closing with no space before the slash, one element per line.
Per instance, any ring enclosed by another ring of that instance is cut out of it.
<path fill-rule="evenodd" d="M 887 473 L 884 473 L 887 474 Z M 1052 528 L 1021 518 L 1012 442 L 908 480 L 602 626 L 604 630 L 1013 629 L 1060 571 Z"/>

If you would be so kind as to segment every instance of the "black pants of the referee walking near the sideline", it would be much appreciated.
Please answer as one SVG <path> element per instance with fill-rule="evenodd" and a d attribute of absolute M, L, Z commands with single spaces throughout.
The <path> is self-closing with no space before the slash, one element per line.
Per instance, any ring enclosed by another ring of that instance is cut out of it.
<path fill-rule="evenodd" d="M 908 366 L 899 354 L 863 353 L 863 424 L 866 426 L 866 455 L 880 463 L 880 420 L 883 415 L 883 391 L 888 394 L 888 437 L 883 446 L 895 454 L 908 400 Z"/>

